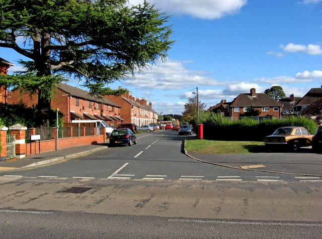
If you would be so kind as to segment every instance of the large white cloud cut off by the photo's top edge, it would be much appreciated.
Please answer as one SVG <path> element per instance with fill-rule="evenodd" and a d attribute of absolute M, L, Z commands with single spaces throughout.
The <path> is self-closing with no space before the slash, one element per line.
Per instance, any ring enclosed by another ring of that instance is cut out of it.
<path fill-rule="evenodd" d="M 247 0 L 149 0 L 156 8 L 172 15 L 189 15 L 201 19 L 219 19 L 233 15 L 247 4 Z M 143 0 L 130 0 L 130 5 L 138 5 Z"/>

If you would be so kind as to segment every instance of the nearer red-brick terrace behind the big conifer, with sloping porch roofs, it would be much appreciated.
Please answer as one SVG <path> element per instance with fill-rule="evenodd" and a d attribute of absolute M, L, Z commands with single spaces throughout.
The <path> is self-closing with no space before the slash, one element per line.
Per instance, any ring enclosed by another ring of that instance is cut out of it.
<path fill-rule="evenodd" d="M 38 95 L 22 95 L 18 90 L 9 92 L 10 103 L 23 102 L 27 106 L 37 104 Z M 110 126 L 116 126 L 123 121 L 121 106 L 102 97 L 95 98 L 86 90 L 60 83 L 51 98 L 51 107 L 59 108 L 64 114 L 63 122 L 72 120 L 104 120 Z"/>

